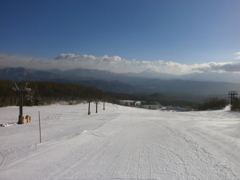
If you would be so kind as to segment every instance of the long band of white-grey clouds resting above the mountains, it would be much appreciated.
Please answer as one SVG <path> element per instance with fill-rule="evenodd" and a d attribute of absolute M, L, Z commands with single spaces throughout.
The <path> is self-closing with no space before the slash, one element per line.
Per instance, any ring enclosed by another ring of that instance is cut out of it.
<path fill-rule="evenodd" d="M 240 59 L 240 52 L 235 59 Z M 194 72 L 234 72 L 240 73 L 240 62 L 209 62 L 203 64 L 181 64 L 163 60 L 137 61 L 127 60 L 119 56 L 108 55 L 96 57 L 93 55 L 76 55 L 61 53 L 55 59 L 19 56 L 16 54 L 0 54 L 1 67 L 27 67 L 35 69 L 70 70 L 76 68 L 107 70 L 116 73 L 153 71 L 168 74 L 189 74 Z"/>

